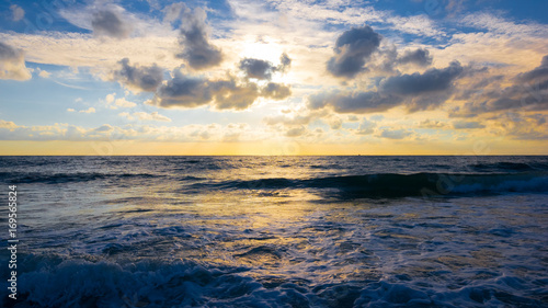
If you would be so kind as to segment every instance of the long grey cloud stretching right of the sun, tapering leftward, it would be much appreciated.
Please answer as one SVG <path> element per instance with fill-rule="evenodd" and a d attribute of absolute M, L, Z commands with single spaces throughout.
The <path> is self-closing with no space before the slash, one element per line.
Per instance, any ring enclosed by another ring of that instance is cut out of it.
<path fill-rule="evenodd" d="M 443 69 L 384 79 L 377 91 L 319 93 L 309 98 L 312 110 L 330 106 L 338 113 L 373 113 L 404 105 L 409 112 L 433 109 L 450 98 L 454 81 L 465 68 L 452 62 Z"/>

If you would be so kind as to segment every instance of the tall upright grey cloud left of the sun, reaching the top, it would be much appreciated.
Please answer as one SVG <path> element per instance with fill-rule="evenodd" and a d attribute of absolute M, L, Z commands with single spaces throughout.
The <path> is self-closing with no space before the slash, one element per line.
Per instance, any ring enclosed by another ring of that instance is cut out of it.
<path fill-rule="evenodd" d="M 197 70 L 219 65 L 222 61 L 222 53 L 208 42 L 206 12 L 201 8 L 192 12 L 185 5 L 181 10 L 183 12 L 179 44 L 183 50 L 175 57 L 185 59 L 190 67 Z"/>

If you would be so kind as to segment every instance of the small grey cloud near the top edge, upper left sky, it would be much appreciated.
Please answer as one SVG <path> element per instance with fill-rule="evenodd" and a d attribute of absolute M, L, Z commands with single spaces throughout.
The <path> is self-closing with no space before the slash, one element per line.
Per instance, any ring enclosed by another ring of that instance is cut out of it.
<path fill-rule="evenodd" d="M 132 34 L 132 26 L 114 10 L 100 10 L 93 13 L 91 26 L 95 36 L 126 38 Z"/>

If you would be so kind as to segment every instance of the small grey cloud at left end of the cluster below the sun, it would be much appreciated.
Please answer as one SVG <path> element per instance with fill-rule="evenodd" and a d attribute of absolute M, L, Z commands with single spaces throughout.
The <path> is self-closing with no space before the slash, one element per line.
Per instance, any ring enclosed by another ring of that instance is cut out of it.
<path fill-rule="evenodd" d="M 118 61 L 119 68 L 112 72 L 113 79 L 132 90 L 153 92 L 163 80 L 162 69 L 157 65 L 150 67 L 130 66 L 129 59 Z"/>

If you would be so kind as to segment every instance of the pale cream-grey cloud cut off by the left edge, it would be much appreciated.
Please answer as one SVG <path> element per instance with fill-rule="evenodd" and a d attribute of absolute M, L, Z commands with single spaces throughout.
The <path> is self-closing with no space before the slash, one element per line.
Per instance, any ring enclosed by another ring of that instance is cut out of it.
<path fill-rule="evenodd" d="M 28 80 L 31 78 L 23 52 L 0 42 L 0 79 Z"/>

